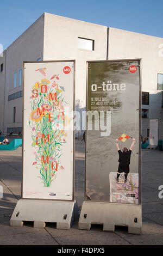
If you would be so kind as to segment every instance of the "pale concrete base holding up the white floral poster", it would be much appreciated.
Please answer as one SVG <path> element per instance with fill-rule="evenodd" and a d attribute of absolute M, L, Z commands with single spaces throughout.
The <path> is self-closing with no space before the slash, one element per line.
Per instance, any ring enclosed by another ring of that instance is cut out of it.
<path fill-rule="evenodd" d="M 18 200 L 10 219 L 13 227 L 22 227 L 24 221 L 34 222 L 34 228 L 45 228 L 46 222 L 57 223 L 57 229 L 70 229 L 79 218 L 76 201 Z"/>

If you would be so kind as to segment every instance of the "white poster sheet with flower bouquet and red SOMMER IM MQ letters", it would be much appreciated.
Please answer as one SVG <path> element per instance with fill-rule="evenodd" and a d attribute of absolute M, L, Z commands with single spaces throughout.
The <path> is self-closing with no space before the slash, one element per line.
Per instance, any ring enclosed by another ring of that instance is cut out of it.
<path fill-rule="evenodd" d="M 74 107 L 73 65 L 24 63 L 25 198 L 72 199 L 73 131 L 66 111 Z"/>

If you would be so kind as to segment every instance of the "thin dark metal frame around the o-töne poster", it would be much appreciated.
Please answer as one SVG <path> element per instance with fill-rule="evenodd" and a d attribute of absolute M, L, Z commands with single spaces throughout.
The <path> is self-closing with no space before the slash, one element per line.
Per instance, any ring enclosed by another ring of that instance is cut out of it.
<path fill-rule="evenodd" d="M 89 70 L 89 63 L 100 63 L 100 62 L 134 62 L 137 61 L 138 65 L 140 66 L 139 68 L 139 162 L 138 162 L 138 166 L 139 166 L 139 204 L 136 205 L 141 205 L 141 87 L 142 87 L 142 83 L 141 83 L 141 78 L 142 78 L 142 59 L 113 59 L 113 60 L 92 60 L 92 61 L 87 61 L 86 62 L 86 112 L 87 112 L 87 91 L 88 91 L 88 70 Z M 87 118 L 87 117 L 86 117 Z M 87 119 L 86 119 L 86 131 L 87 131 Z M 85 201 L 87 202 L 103 202 L 103 203 L 112 203 L 112 204 L 116 204 L 117 202 L 109 202 L 109 201 L 94 201 L 94 200 L 87 200 L 86 199 L 86 153 L 87 153 L 87 148 L 86 148 L 86 140 L 87 140 L 87 133 L 85 136 L 85 193 L 84 193 L 84 197 L 85 197 Z M 120 204 L 125 204 L 125 203 L 120 203 Z M 133 205 L 131 203 L 129 203 L 129 205 Z M 135 205 L 135 204 L 134 204 Z"/>

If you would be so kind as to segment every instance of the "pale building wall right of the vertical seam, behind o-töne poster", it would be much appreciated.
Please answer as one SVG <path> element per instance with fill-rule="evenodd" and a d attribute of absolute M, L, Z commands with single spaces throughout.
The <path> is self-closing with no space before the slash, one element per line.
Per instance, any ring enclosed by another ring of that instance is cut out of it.
<path fill-rule="evenodd" d="M 149 92 L 149 119 L 159 119 L 159 139 L 163 139 L 162 95 L 157 90 L 157 74 L 163 74 L 163 57 L 159 56 L 162 38 L 109 28 L 108 59 L 142 58 L 142 92 Z M 149 119 L 142 119 L 142 135 L 147 136 Z"/>

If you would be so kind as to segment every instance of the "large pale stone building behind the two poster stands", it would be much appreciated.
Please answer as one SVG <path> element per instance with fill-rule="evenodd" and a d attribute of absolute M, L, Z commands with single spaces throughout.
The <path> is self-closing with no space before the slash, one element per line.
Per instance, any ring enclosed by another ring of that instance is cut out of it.
<path fill-rule="evenodd" d="M 0 57 L 0 129 L 3 134 L 21 131 L 23 61 L 76 60 L 76 110 L 82 112 L 86 61 L 142 58 L 142 136 L 149 136 L 149 120 L 159 119 L 163 139 L 161 45 L 163 39 L 155 36 L 43 14 Z"/>

